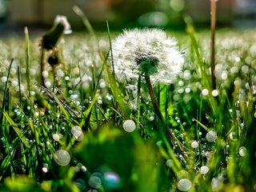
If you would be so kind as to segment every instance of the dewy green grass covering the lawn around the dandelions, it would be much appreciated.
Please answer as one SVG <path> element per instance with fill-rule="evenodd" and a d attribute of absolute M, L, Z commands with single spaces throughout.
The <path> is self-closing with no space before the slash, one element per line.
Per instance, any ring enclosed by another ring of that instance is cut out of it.
<path fill-rule="evenodd" d="M 188 25 L 174 35 L 186 64 L 172 85 L 154 86 L 169 134 L 145 83 L 138 98 L 115 81 L 115 34 L 66 36 L 47 88 L 38 38 L 2 40 L 1 191 L 256 191 L 254 32 L 216 32 L 216 90 L 209 34 Z"/>

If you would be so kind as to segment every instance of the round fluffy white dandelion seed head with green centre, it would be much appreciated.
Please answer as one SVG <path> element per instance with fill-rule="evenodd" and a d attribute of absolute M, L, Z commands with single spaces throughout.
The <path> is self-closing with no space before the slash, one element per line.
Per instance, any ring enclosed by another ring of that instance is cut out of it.
<path fill-rule="evenodd" d="M 112 54 L 118 80 L 138 79 L 147 73 L 153 83 L 168 84 L 184 63 L 177 42 L 157 29 L 125 30 L 114 40 Z"/>

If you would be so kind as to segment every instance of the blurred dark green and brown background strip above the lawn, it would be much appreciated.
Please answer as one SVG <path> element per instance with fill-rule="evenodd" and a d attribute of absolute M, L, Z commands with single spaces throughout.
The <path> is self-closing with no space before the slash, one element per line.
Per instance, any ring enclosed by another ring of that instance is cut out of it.
<path fill-rule="evenodd" d="M 72 9 L 80 7 L 96 29 L 130 26 L 183 28 L 189 15 L 198 26 L 209 26 L 210 0 L 0 0 L 2 28 L 50 26 L 57 14 L 66 15 L 73 29 L 82 21 Z M 255 0 L 218 0 L 219 26 L 256 26 Z M 3 30 L 2 30 L 3 31 Z M 2 32 L 1 31 L 1 32 Z"/>

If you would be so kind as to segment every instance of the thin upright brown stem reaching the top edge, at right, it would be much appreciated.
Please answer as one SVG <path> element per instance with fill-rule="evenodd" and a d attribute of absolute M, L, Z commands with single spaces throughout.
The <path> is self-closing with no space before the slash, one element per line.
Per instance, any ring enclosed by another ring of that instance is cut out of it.
<path fill-rule="evenodd" d="M 215 70 L 215 27 L 216 27 L 216 0 L 210 0 L 210 71 L 212 89 L 216 90 Z"/>

